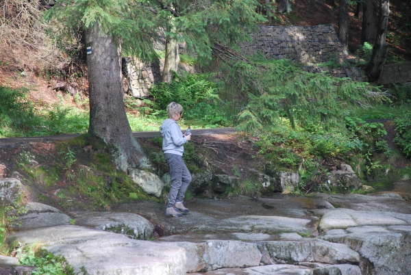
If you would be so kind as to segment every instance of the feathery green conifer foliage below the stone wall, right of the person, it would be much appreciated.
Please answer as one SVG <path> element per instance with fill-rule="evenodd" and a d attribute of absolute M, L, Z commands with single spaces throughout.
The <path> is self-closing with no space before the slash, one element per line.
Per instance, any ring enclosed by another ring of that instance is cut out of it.
<path fill-rule="evenodd" d="M 225 90 L 247 94 L 239 129 L 260 131 L 286 118 L 291 127 L 340 127 L 343 118 L 358 109 L 387 101 L 385 94 L 365 82 L 307 73 L 288 60 L 256 58 L 227 69 Z"/>

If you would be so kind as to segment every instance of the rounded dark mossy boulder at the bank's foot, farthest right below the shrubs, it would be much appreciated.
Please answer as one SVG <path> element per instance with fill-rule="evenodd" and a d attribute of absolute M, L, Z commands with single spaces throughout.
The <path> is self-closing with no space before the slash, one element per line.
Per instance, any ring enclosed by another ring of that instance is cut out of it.
<path fill-rule="evenodd" d="M 362 187 L 362 183 L 353 168 L 347 163 L 341 163 L 339 168 L 334 166 L 331 174 L 328 176 L 329 183 L 340 192 L 347 192 L 349 189 L 359 189 Z"/>

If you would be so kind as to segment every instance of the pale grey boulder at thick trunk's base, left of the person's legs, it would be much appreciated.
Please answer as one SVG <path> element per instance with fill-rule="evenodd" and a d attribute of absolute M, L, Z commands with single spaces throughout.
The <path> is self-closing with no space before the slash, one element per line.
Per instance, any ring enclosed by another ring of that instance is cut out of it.
<path fill-rule="evenodd" d="M 132 177 L 134 183 L 140 186 L 147 194 L 158 198 L 161 196 L 164 183 L 158 175 L 135 168 L 129 169 L 129 175 Z"/>

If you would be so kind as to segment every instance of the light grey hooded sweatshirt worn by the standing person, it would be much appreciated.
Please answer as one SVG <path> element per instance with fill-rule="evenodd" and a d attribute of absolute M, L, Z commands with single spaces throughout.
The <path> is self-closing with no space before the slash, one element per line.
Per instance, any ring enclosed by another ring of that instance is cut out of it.
<path fill-rule="evenodd" d="M 177 122 L 171 118 L 164 120 L 160 126 L 161 135 L 163 137 L 164 154 L 175 154 L 182 156 L 184 153 L 184 144 L 187 142 L 183 137 L 182 130 Z"/>

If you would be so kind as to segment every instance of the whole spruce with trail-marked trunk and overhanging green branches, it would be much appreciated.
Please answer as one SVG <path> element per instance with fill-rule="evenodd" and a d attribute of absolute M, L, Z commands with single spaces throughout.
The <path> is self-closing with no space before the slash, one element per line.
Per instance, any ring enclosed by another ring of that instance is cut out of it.
<path fill-rule="evenodd" d="M 121 56 L 153 60 L 159 30 L 166 38 L 186 42 L 201 64 L 210 62 L 214 47 L 237 47 L 264 18 L 255 0 L 60 0 L 45 18 L 62 22 L 60 37 L 83 29 L 90 92 L 89 133 L 117 149 L 116 165 L 127 171 L 146 159 L 132 137 L 121 82 Z M 171 20 L 171 18 L 173 20 Z"/>

